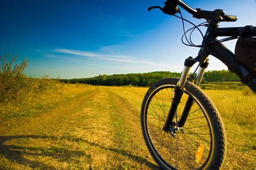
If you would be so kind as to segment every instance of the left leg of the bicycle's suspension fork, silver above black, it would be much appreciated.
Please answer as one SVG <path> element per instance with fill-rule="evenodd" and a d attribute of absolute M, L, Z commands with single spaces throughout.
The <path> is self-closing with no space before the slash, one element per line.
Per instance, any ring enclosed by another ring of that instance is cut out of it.
<path fill-rule="evenodd" d="M 183 68 L 182 74 L 180 76 L 179 82 L 175 86 L 174 96 L 173 96 L 173 99 L 172 99 L 172 102 L 171 102 L 171 106 L 170 106 L 170 109 L 169 109 L 169 112 L 168 112 L 167 119 L 166 119 L 165 124 L 163 126 L 164 131 L 169 131 L 170 126 L 172 125 L 172 120 L 174 118 L 175 111 L 178 107 L 180 98 L 182 97 L 183 88 L 185 86 L 189 70 L 195 62 L 196 61 L 194 61 L 191 56 L 189 56 L 188 58 L 185 59 L 184 68 Z"/>

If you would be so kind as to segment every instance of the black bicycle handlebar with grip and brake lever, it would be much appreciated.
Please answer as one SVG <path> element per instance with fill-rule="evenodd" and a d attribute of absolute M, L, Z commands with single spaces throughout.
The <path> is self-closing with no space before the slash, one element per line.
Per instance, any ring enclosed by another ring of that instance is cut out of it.
<path fill-rule="evenodd" d="M 224 11 L 221 9 L 215 9 L 213 11 L 201 10 L 200 8 L 193 9 L 190 6 L 188 6 L 186 3 L 184 3 L 182 0 L 166 0 L 166 2 L 164 2 L 164 7 L 151 6 L 148 8 L 148 11 L 150 11 L 153 8 L 159 8 L 163 13 L 173 15 L 177 12 L 180 12 L 177 5 L 185 9 L 187 12 L 191 13 L 193 17 L 196 17 L 196 18 L 204 18 L 206 20 L 216 20 L 216 21 L 236 21 L 237 20 L 237 16 L 224 14 Z"/>

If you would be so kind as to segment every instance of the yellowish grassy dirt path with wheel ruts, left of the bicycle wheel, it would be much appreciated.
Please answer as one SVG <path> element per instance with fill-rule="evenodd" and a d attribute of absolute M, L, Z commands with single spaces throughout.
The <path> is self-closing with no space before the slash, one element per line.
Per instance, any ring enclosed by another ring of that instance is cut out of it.
<path fill-rule="evenodd" d="M 0 169 L 157 169 L 148 154 L 137 108 L 106 87 L 0 125 Z"/>

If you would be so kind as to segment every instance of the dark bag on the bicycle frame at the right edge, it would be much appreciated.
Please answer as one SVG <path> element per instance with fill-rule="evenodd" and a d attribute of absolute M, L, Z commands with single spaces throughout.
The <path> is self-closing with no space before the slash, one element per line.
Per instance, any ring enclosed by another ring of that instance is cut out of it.
<path fill-rule="evenodd" d="M 243 64 L 250 73 L 256 76 L 256 38 L 238 38 L 234 50 L 235 58 Z"/>

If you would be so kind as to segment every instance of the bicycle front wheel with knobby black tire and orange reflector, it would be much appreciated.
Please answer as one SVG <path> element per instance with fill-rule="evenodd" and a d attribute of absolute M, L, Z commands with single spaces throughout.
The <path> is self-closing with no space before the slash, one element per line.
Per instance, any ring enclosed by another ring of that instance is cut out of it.
<path fill-rule="evenodd" d="M 164 169 L 218 169 L 225 154 L 225 131 L 221 117 L 203 91 L 188 82 L 175 111 L 172 129 L 163 130 L 177 78 L 153 84 L 141 106 L 141 128 L 146 145 Z M 188 97 L 193 99 L 185 124 L 178 126 Z"/>

